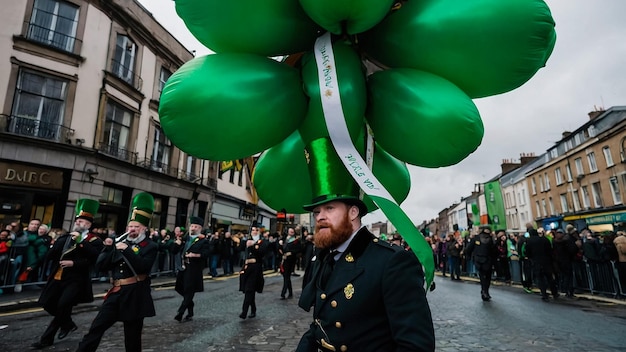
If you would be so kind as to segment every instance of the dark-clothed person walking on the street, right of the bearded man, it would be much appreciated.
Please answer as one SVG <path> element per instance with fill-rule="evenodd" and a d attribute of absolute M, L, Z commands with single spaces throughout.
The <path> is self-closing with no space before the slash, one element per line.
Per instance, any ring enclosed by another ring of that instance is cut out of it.
<path fill-rule="evenodd" d="M 478 229 L 480 233 L 468 244 L 465 252 L 472 257 L 478 270 L 480 297 L 483 301 L 489 301 L 491 300 L 491 295 L 489 294 L 491 273 L 493 272 L 497 249 L 493 237 L 491 237 L 491 227 L 489 225 L 481 225 Z"/>

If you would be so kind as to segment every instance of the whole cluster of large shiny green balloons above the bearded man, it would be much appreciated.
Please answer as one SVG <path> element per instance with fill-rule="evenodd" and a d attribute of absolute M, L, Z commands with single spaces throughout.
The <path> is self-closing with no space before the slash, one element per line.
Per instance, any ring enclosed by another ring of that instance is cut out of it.
<path fill-rule="evenodd" d="M 168 80 L 165 133 L 203 159 L 263 152 L 257 192 L 293 213 L 312 199 L 304 148 L 328 137 L 312 52 L 325 31 L 352 143 L 364 149 L 367 122 L 372 172 L 397 202 L 410 188 L 406 163 L 443 167 L 476 150 L 484 129 L 472 99 L 529 80 L 556 38 L 543 0 L 176 0 L 176 12 L 216 54 Z"/>

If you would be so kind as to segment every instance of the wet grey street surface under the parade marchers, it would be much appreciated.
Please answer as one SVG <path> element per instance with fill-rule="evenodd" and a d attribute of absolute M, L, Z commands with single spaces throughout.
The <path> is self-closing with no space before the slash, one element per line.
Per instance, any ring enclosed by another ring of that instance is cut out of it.
<path fill-rule="evenodd" d="M 243 300 L 238 283 L 236 276 L 206 280 L 205 292 L 196 295 L 194 319 L 186 323 L 173 319 L 181 302 L 173 287 L 165 283 L 155 288 L 157 316 L 145 320 L 144 351 L 294 351 L 311 319 L 297 306 L 301 278 L 293 278 L 296 298 L 280 300 L 282 278 L 266 276 L 265 290 L 257 295 L 257 317 L 245 320 L 238 317 Z M 437 351 L 626 350 L 626 305 L 566 298 L 546 303 L 538 294 L 510 286 L 494 286 L 492 301 L 483 302 L 474 281 L 438 276 L 436 283 L 428 297 Z M 104 287 L 95 284 L 95 293 L 103 293 Z M 78 330 L 44 351 L 73 351 L 100 302 L 96 298 L 93 304 L 78 306 L 73 317 Z M 8 325 L 0 330 L 0 350 L 29 350 L 50 320 L 37 308 L 0 314 L 0 325 Z M 123 328 L 117 323 L 99 351 L 123 350 Z"/>

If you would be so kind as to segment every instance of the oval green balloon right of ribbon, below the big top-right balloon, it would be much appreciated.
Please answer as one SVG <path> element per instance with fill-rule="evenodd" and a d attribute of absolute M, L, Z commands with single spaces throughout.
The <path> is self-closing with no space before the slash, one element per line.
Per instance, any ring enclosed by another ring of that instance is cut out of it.
<path fill-rule="evenodd" d="M 458 163 L 480 145 L 483 124 L 472 100 L 428 72 L 389 69 L 368 81 L 366 118 L 391 155 L 424 167 Z"/>

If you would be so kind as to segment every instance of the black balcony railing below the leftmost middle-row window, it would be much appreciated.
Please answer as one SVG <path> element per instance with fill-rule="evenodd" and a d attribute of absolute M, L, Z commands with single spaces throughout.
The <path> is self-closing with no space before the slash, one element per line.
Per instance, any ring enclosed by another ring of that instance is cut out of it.
<path fill-rule="evenodd" d="M 6 126 L 5 132 L 8 133 L 59 143 L 74 134 L 74 130 L 69 127 L 29 117 L 0 115 L 0 126 Z"/>

